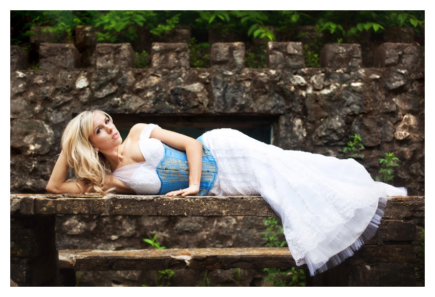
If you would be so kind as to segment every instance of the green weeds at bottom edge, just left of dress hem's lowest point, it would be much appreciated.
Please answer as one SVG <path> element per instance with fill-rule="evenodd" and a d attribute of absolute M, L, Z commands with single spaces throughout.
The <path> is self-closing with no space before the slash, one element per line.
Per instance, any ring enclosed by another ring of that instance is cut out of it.
<path fill-rule="evenodd" d="M 264 281 L 272 282 L 273 287 L 305 287 L 307 285 L 307 277 L 303 269 L 264 268 L 263 271 L 267 272 Z"/>

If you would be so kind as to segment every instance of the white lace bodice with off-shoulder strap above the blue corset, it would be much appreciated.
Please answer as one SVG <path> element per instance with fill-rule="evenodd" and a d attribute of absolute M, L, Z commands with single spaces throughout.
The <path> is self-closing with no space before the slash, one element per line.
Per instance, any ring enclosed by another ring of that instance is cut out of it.
<path fill-rule="evenodd" d="M 145 161 L 120 167 L 112 173 L 139 195 L 156 195 L 160 190 L 161 181 L 156 167 L 162 160 L 165 150 L 160 140 L 149 138 L 151 131 L 156 127 L 158 125 L 148 124 L 140 135 L 139 148 Z"/>

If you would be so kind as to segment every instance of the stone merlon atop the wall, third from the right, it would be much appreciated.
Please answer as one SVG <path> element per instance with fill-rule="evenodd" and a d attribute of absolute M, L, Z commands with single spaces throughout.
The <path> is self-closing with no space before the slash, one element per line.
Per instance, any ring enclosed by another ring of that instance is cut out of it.
<path fill-rule="evenodd" d="M 266 58 L 269 69 L 305 68 L 302 43 L 269 42 Z"/>

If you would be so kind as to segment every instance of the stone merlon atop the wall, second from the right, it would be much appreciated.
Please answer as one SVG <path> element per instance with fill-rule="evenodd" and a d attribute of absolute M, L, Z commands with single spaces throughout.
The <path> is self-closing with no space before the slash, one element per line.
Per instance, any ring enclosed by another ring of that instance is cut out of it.
<path fill-rule="evenodd" d="M 354 72 L 361 68 L 361 45 L 327 44 L 320 53 L 320 66 L 331 70 Z"/>

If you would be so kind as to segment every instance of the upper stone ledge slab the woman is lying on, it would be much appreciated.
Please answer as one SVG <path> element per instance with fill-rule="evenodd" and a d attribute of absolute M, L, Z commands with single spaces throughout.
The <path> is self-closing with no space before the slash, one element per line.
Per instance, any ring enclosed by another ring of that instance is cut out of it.
<path fill-rule="evenodd" d="M 260 196 L 50 195 L 10 196 L 11 215 L 276 216 Z M 424 217 L 424 196 L 391 197 L 384 219 Z"/>

